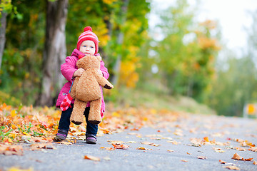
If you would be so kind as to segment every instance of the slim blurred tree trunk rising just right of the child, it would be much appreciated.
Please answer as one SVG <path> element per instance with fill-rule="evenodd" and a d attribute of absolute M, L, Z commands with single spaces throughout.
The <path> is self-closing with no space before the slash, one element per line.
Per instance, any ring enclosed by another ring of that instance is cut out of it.
<path fill-rule="evenodd" d="M 123 26 L 126 22 L 126 14 L 128 11 L 128 6 L 129 6 L 129 0 L 124 0 L 123 6 L 121 6 L 121 26 Z M 122 32 L 121 28 L 119 29 L 119 35 L 118 35 L 118 40 L 117 44 L 118 46 L 121 46 L 122 43 L 124 42 L 124 33 Z M 112 77 L 111 83 L 116 86 L 119 83 L 119 76 L 121 72 L 121 53 L 118 54 L 116 63 L 114 66 L 114 76 Z"/>

